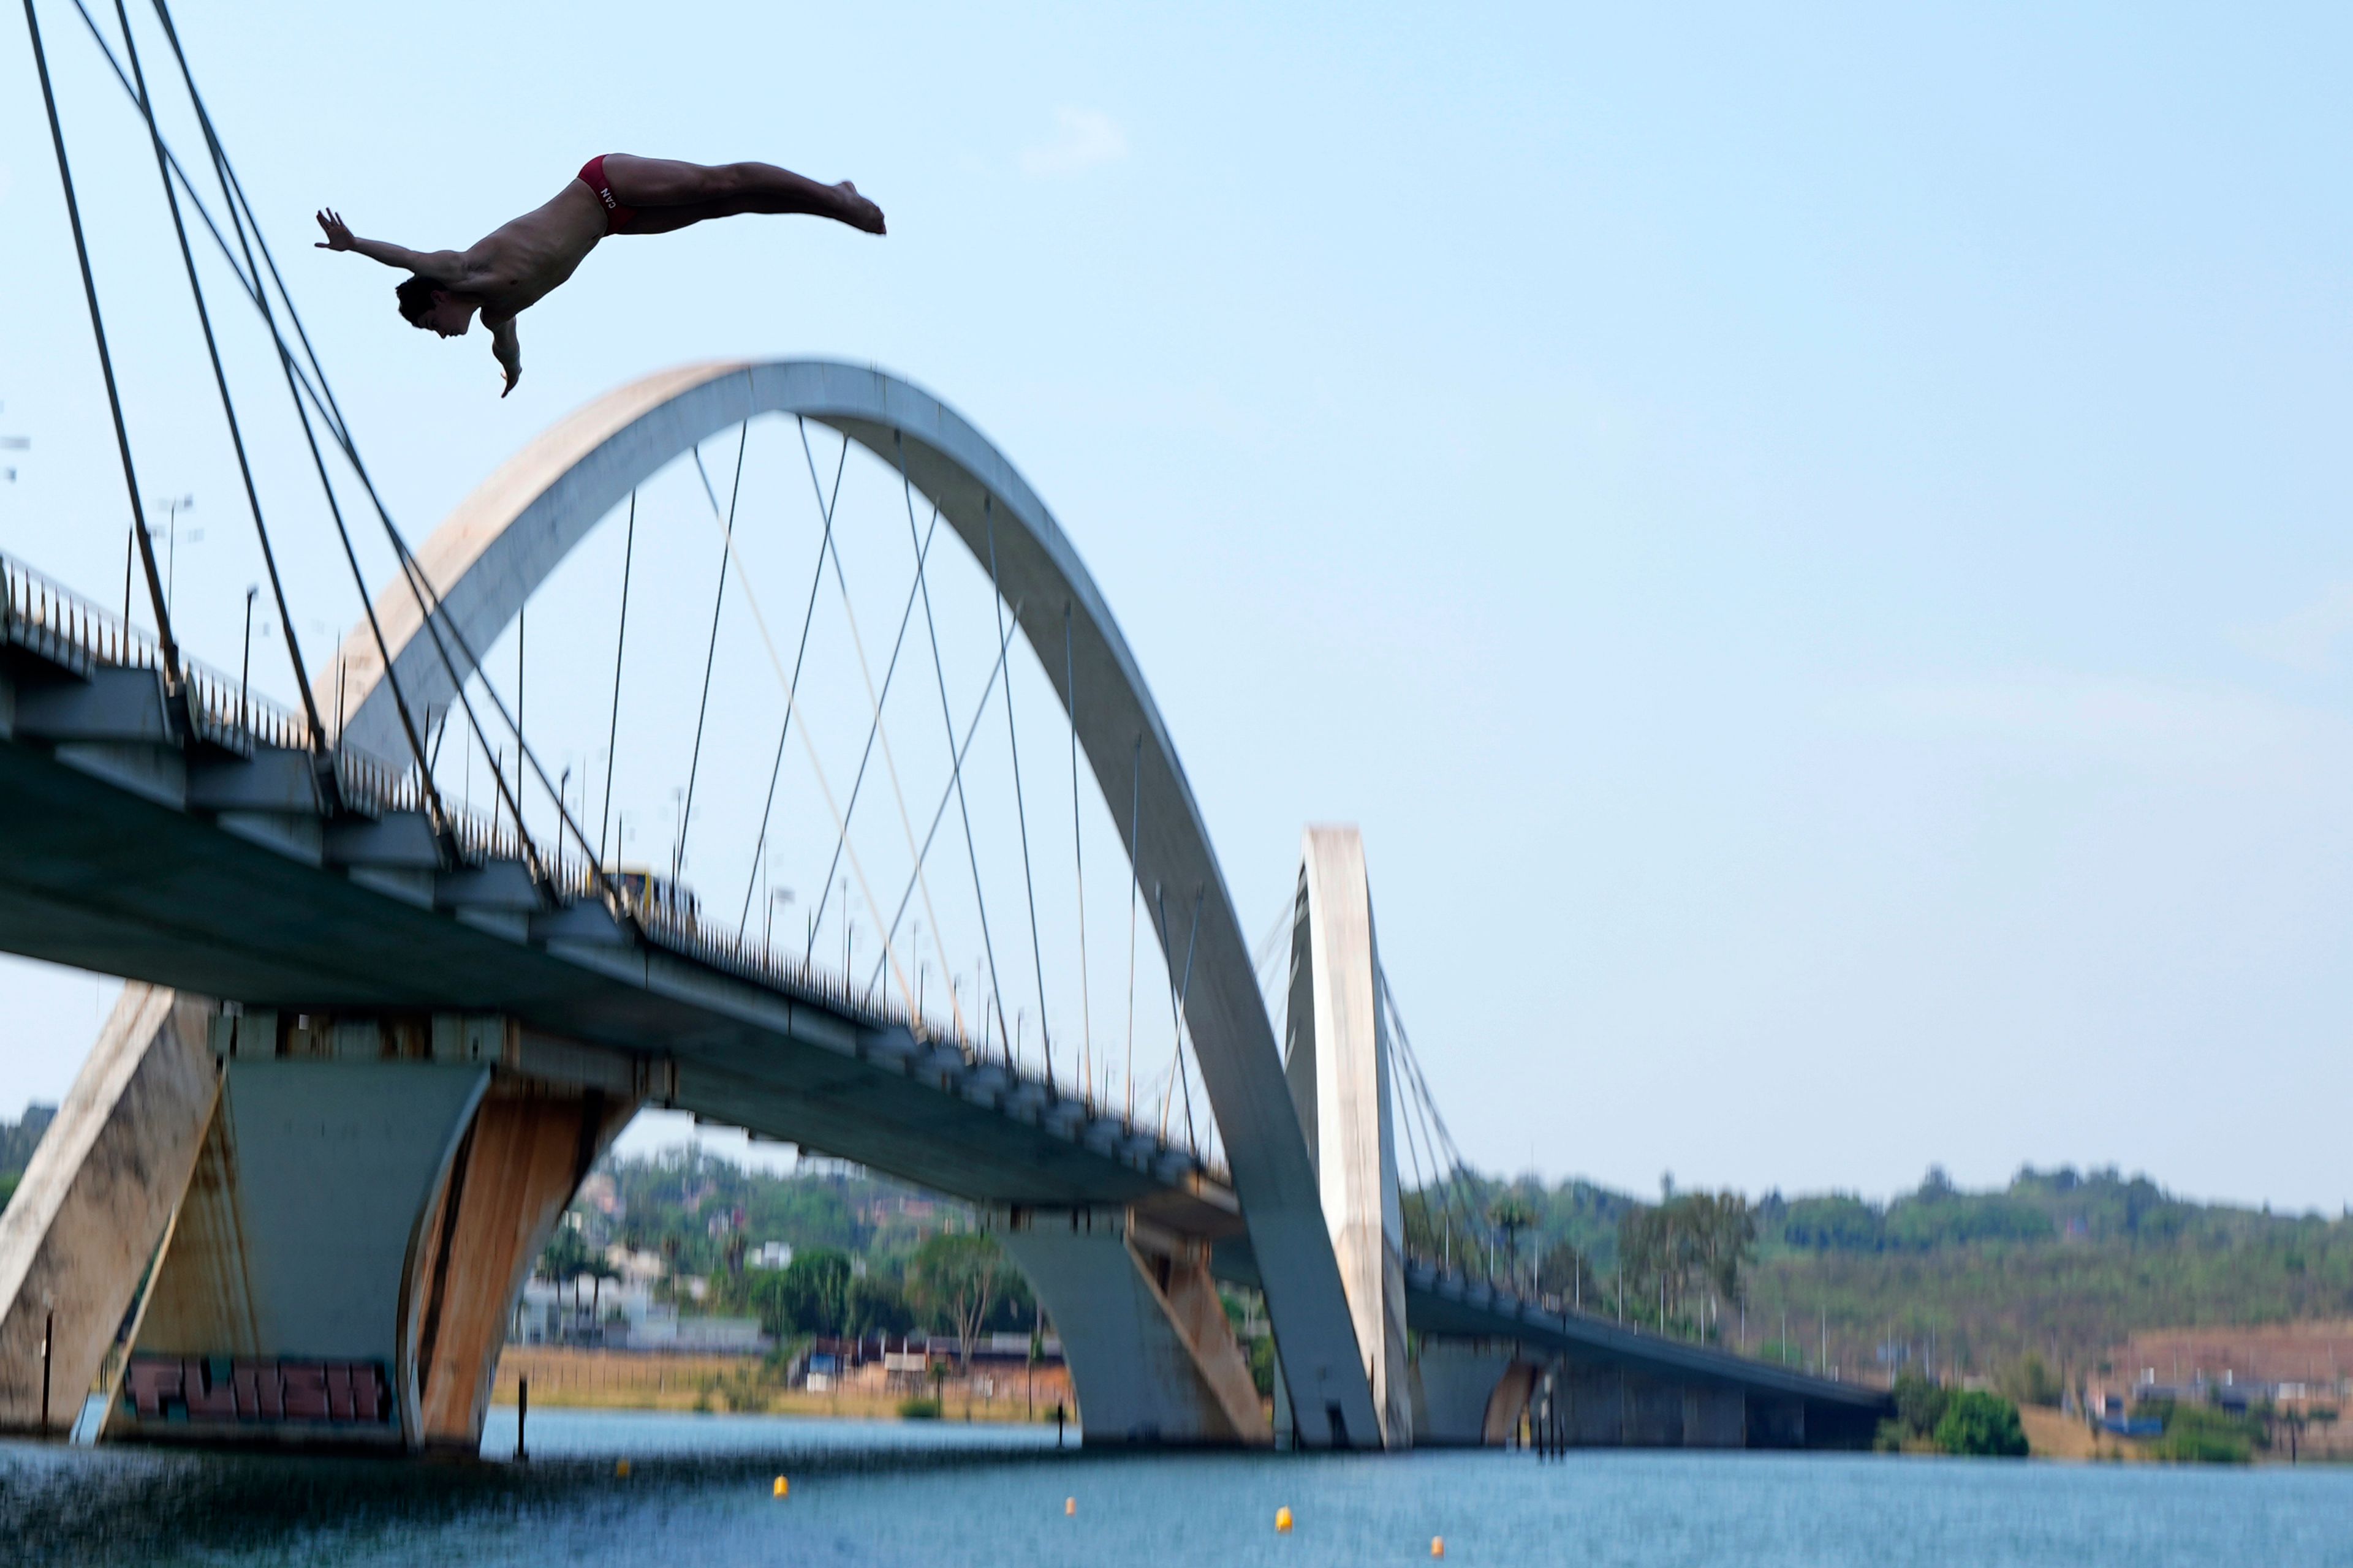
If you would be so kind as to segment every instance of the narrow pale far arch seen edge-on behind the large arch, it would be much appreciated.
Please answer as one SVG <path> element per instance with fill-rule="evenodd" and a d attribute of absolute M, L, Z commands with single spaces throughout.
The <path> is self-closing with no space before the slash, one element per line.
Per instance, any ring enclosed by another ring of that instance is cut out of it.
<path fill-rule="evenodd" d="M 1285 1074 L 1322 1190 L 1381 1446 L 1409 1448 L 1405 1208 L 1388 1110 L 1372 884 L 1355 827 L 1308 827 L 1301 842 Z"/>

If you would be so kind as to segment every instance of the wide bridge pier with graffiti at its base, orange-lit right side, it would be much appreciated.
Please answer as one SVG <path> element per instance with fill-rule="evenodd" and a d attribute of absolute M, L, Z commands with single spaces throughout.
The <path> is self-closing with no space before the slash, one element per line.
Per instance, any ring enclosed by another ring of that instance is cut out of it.
<path fill-rule="evenodd" d="M 461 1016 L 247 1009 L 214 1044 L 219 1105 L 104 1436 L 471 1453 L 515 1291 L 635 1110 L 633 1063 Z"/>

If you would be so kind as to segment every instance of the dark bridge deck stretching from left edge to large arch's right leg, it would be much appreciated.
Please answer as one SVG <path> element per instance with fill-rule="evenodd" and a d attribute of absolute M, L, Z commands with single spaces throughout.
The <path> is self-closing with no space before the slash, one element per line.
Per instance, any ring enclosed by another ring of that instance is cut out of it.
<path fill-rule="evenodd" d="M 1151 1133 L 647 940 L 515 860 L 452 863 L 416 813 L 289 799 L 308 755 L 191 736 L 153 670 L 75 670 L 24 630 L 0 623 L 0 950 L 285 1011 L 504 1013 L 675 1063 L 668 1105 L 936 1192 L 1238 1227 L 1224 1182 Z"/>

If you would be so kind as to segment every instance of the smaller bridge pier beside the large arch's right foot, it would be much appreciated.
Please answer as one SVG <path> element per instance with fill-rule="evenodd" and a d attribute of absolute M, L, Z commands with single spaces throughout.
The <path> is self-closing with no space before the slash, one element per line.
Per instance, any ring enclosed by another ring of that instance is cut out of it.
<path fill-rule="evenodd" d="M 1266 1446 L 1207 1244 L 1115 1208 L 1016 1211 L 998 1239 L 1061 1333 L 1089 1446 Z"/>

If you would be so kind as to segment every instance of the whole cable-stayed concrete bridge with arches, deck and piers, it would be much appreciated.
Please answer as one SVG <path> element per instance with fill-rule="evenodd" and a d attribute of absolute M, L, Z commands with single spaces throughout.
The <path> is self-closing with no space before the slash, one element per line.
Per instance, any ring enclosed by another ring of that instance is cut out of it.
<path fill-rule="evenodd" d="M 478 1450 L 532 1260 L 607 1143 L 659 1105 L 974 1206 L 1056 1321 L 1089 1443 L 1868 1436 L 1875 1389 L 1515 1288 L 1480 1265 L 1478 1220 L 1409 1234 L 1407 1199 L 1426 1213 L 1459 1157 L 1412 1190 L 1400 1178 L 1400 1133 L 1417 1164 L 1431 1107 L 1419 1070 L 1400 1070 L 1362 842 L 1304 835 L 1297 893 L 1254 952 L 1104 595 L 1014 465 L 929 393 L 816 360 L 645 376 L 544 433 L 409 548 L 160 2 L 153 26 L 209 183 L 155 129 L 136 33 L 89 33 L 153 134 L 294 701 L 254 693 L 249 646 L 231 679 L 174 637 L 115 400 L 151 630 L 0 562 L 0 950 L 129 978 L 0 1215 L 0 1427 L 54 1432 L 96 1387 L 111 1441 Z M 71 209 L 54 101 L 52 129 Z M 318 677 L 188 214 L 308 437 L 318 503 L 296 515 L 332 522 L 360 590 Z M 89 277 L 85 252 L 113 393 Z M 812 496 L 805 604 L 793 583 L 774 611 L 781 534 L 758 480 L 741 510 L 755 433 L 805 458 Z M 732 449 L 727 484 L 706 447 Z M 854 451 L 864 510 L 845 503 Z M 675 550 L 640 562 L 640 508 L 649 545 L 656 510 L 699 520 L 708 618 L 633 604 L 633 569 L 659 581 Z M 374 585 L 351 527 L 369 512 L 388 557 Z M 616 534 L 607 637 L 579 588 Z M 875 581 L 875 541 L 904 567 L 866 590 L 861 623 L 845 559 Z M 828 583 L 831 642 L 812 637 Z M 892 614 L 885 649 L 861 625 Z M 562 703 L 527 724 L 525 635 L 536 625 L 546 646 L 551 616 L 558 686 L 609 656 L 602 748 L 551 736 Z M 692 748 L 682 689 L 621 724 L 647 618 L 671 654 L 701 651 Z M 511 682 L 494 675 L 501 649 Z M 715 703 L 718 682 L 732 684 Z M 753 731 L 774 745 L 746 752 Z M 781 785 L 795 750 L 805 769 Z M 640 820 L 678 778 L 666 872 L 619 849 L 624 764 Z M 1066 823 L 1042 783 L 1059 766 Z M 696 806 L 699 790 L 734 790 L 748 842 L 708 849 L 727 813 Z M 1071 856 L 1047 865 L 1064 832 Z M 1064 870 L 1071 905 L 1040 914 L 1040 877 Z M 722 884 L 727 903 L 706 910 Z M 814 889 L 814 907 L 805 940 L 779 943 L 788 886 Z M 819 957 L 828 914 L 838 966 L 831 940 Z M 866 964 L 861 936 L 880 947 Z M 1101 957 L 1122 945 L 1125 964 Z M 1125 997 L 1125 1027 L 1096 987 Z M 1264 1295 L 1271 1413 L 1221 1288 Z"/>

